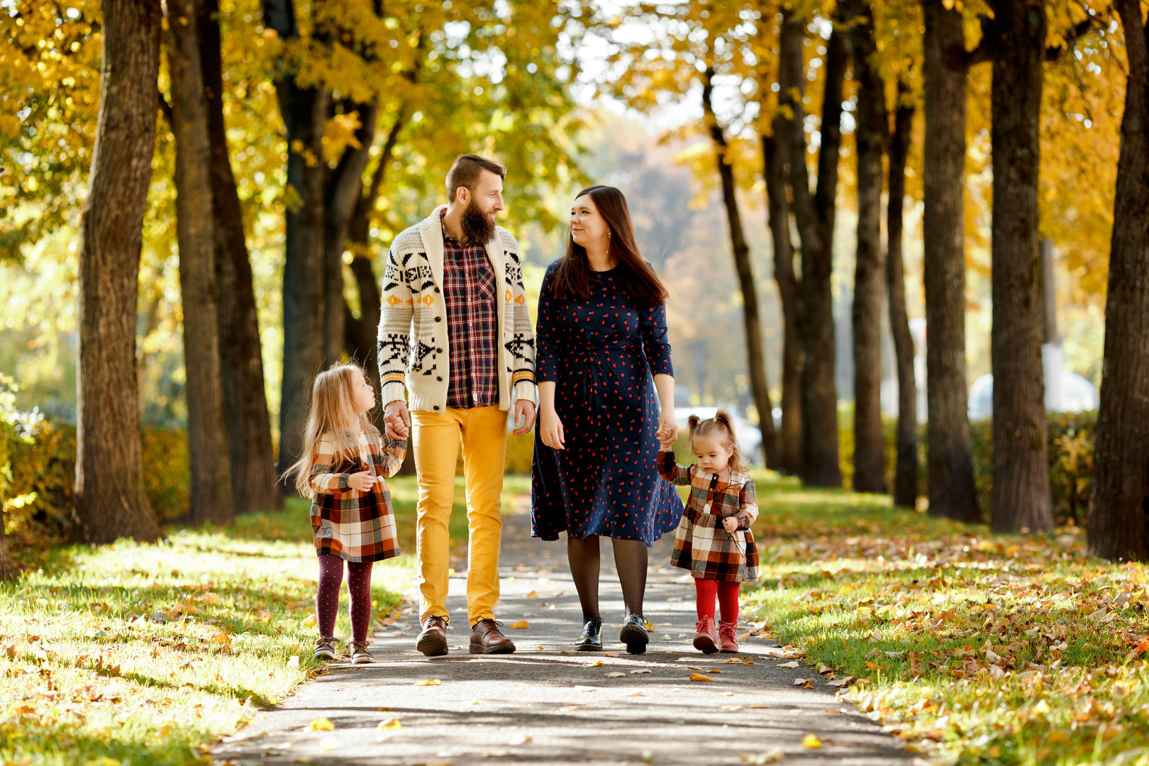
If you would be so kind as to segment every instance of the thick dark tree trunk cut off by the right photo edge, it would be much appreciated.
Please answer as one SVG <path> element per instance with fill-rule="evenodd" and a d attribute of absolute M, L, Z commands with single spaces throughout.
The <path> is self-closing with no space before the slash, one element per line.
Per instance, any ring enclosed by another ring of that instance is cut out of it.
<path fill-rule="evenodd" d="M 1128 79 L 1117 162 L 1089 552 L 1149 560 L 1149 34 L 1138 0 L 1113 3 Z"/>

